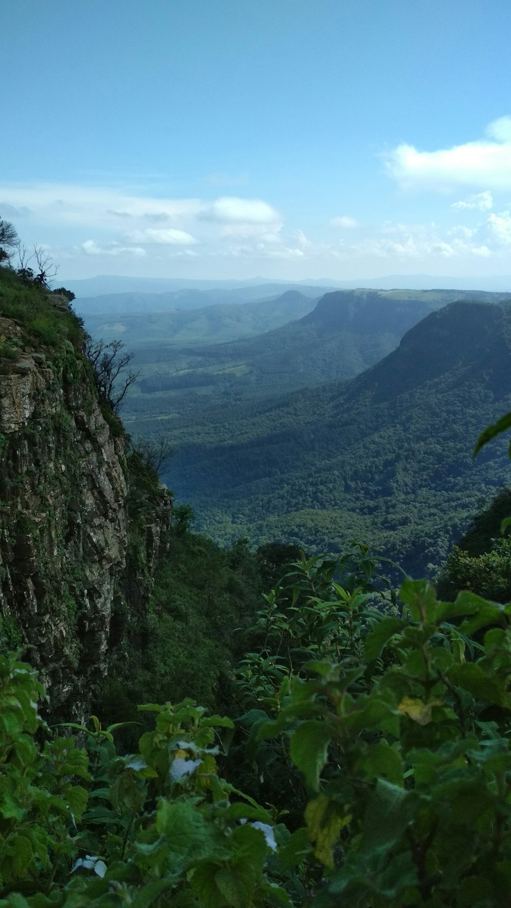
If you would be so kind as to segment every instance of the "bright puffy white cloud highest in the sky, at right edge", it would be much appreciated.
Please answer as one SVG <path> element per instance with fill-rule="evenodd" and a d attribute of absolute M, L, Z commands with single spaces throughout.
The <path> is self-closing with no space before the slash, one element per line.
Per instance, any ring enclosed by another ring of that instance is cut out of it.
<path fill-rule="evenodd" d="M 486 136 L 434 152 L 402 143 L 385 155 L 387 172 L 404 186 L 511 189 L 511 117 L 490 123 Z"/>

